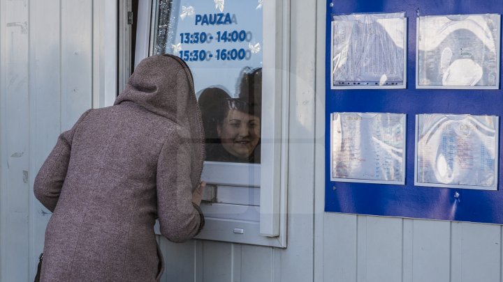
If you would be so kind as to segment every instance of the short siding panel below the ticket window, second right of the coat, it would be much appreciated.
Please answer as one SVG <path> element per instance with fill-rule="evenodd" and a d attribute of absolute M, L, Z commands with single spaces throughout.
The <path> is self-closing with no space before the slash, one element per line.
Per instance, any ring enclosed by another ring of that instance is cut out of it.
<path fill-rule="evenodd" d="M 203 242 L 203 281 L 230 282 L 232 270 L 232 245 L 228 243 Z"/>

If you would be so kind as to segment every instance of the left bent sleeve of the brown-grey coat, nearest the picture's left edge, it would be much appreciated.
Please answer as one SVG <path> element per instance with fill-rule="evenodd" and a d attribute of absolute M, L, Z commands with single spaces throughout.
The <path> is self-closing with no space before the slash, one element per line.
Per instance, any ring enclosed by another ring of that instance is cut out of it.
<path fill-rule="evenodd" d="M 87 116 L 88 110 L 80 116 L 71 130 L 61 133 L 56 146 L 52 149 L 49 157 L 45 159 L 40 171 L 35 178 L 34 193 L 38 201 L 50 212 L 54 212 L 63 182 L 66 178 L 68 163 L 70 162 L 71 143 L 73 134 L 79 123 Z"/>

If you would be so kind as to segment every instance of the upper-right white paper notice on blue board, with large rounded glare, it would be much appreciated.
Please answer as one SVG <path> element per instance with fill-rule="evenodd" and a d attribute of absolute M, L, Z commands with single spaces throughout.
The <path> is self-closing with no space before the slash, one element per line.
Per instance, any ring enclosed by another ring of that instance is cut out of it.
<path fill-rule="evenodd" d="M 418 17 L 417 32 L 418 88 L 498 87 L 500 15 Z"/>

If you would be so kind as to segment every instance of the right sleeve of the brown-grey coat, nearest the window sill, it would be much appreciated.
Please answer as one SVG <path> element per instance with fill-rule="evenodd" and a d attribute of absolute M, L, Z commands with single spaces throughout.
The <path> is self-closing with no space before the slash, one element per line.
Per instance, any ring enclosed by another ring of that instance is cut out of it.
<path fill-rule="evenodd" d="M 157 213 L 161 234 L 184 242 L 204 226 L 201 209 L 192 203 L 191 152 L 187 143 L 168 138 L 157 164 Z"/>

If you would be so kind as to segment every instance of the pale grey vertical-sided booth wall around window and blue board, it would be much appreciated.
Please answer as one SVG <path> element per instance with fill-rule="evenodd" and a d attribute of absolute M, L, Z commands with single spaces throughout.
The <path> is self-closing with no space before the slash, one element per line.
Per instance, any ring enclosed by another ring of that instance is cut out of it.
<path fill-rule="evenodd" d="M 110 102 L 115 2 L 39 2 L 0 0 L 0 281 L 34 277 L 50 214 L 33 181 L 58 134 Z M 161 281 L 503 281 L 502 226 L 323 212 L 325 5 L 291 0 L 288 248 L 159 237 Z"/>

